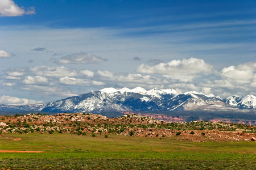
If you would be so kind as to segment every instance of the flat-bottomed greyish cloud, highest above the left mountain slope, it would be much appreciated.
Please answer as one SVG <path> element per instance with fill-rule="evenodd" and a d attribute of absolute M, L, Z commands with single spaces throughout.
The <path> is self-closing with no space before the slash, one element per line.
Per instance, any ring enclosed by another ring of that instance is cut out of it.
<path fill-rule="evenodd" d="M 91 53 L 75 53 L 56 59 L 54 62 L 57 64 L 82 64 L 82 63 L 98 63 L 108 61 L 106 58 L 94 56 Z"/>

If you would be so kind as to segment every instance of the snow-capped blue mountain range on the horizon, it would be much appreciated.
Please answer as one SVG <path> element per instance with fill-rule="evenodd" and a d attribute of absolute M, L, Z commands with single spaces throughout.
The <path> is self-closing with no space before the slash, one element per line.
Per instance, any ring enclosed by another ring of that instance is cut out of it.
<path fill-rule="evenodd" d="M 256 97 L 230 96 L 226 99 L 205 95 L 196 91 L 181 94 L 174 89 L 153 88 L 145 90 L 142 87 L 133 89 L 104 88 L 100 91 L 89 92 L 62 100 L 50 101 L 31 105 L 0 105 L 0 111 L 42 111 L 42 112 L 87 112 L 107 113 L 126 111 L 205 111 L 225 110 L 242 111 L 241 109 L 255 109 Z"/>

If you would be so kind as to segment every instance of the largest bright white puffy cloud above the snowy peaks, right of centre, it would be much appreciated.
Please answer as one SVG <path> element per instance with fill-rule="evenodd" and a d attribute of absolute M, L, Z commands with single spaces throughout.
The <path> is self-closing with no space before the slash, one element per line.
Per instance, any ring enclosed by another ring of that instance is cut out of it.
<path fill-rule="evenodd" d="M 154 66 L 142 64 L 137 68 L 139 73 L 162 74 L 166 78 L 179 79 L 183 82 L 188 82 L 199 74 L 209 74 L 211 70 L 212 65 L 197 58 L 172 60 Z"/>

